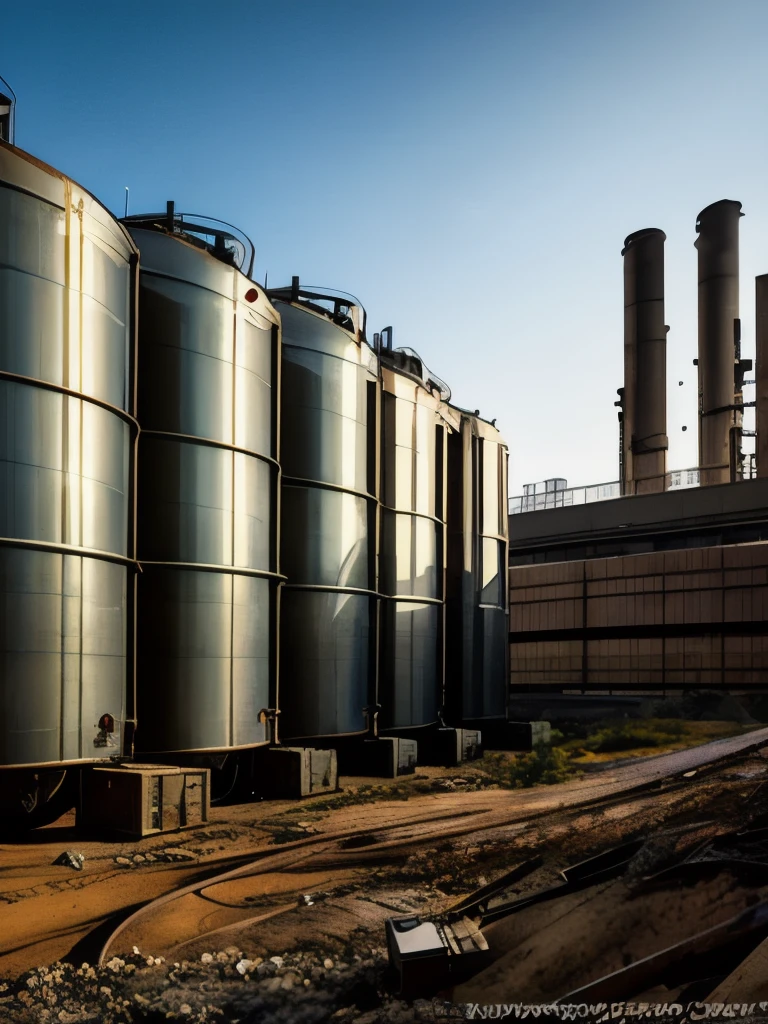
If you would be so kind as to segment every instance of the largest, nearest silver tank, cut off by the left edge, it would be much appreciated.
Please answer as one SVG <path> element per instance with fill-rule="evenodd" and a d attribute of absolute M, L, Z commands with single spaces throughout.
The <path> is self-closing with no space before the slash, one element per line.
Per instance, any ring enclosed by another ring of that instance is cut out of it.
<path fill-rule="evenodd" d="M 135 272 L 92 196 L 0 142 L 4 766 L 122 754 Z"/>

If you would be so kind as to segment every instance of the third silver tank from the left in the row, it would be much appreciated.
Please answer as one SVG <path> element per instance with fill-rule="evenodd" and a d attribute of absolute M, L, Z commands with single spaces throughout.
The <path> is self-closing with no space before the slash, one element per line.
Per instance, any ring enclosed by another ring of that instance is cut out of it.
<path fill-rule="evenodd" d="M 283 323 L 281 731 L 359 733 L 375 699 L 377 360 L 358 306 L 271 294 Z"/>

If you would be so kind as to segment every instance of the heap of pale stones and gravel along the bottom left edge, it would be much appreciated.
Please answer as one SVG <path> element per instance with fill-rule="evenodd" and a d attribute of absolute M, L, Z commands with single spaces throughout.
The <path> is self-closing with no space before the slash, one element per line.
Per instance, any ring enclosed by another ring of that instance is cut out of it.
<path fill-rule="evenodd" d="M 169 963 L 135 946 L 101 967 L 54 964 L 0 982 L 0 1020 L 13 1024 L 411 1024 L 388 993 L 386 950 L 250 958 L 230 946 Z"/>

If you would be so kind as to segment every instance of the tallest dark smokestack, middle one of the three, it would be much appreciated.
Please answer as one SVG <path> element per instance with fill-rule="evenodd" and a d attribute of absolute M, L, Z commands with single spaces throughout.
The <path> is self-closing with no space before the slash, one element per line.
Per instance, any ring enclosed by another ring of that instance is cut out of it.
<path fill-rule="evenodd" d="M 741 411 L 736 403 L 740 357 L 738 220 L 741 204 L 723 199 L 702 210 L 698 238 L 698 465 L 700 482 L 740 476 Z"/>

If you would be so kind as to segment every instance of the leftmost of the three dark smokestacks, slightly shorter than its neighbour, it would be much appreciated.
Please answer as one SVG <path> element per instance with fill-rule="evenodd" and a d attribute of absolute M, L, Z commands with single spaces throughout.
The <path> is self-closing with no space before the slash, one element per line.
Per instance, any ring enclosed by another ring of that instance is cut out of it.
<path fill-rule="evenodd" d="M 665 489 L 667 474 L 667 332 L 664 244 L 656 227 L 625 239 L 624 419 L 622 494 Z"/>

